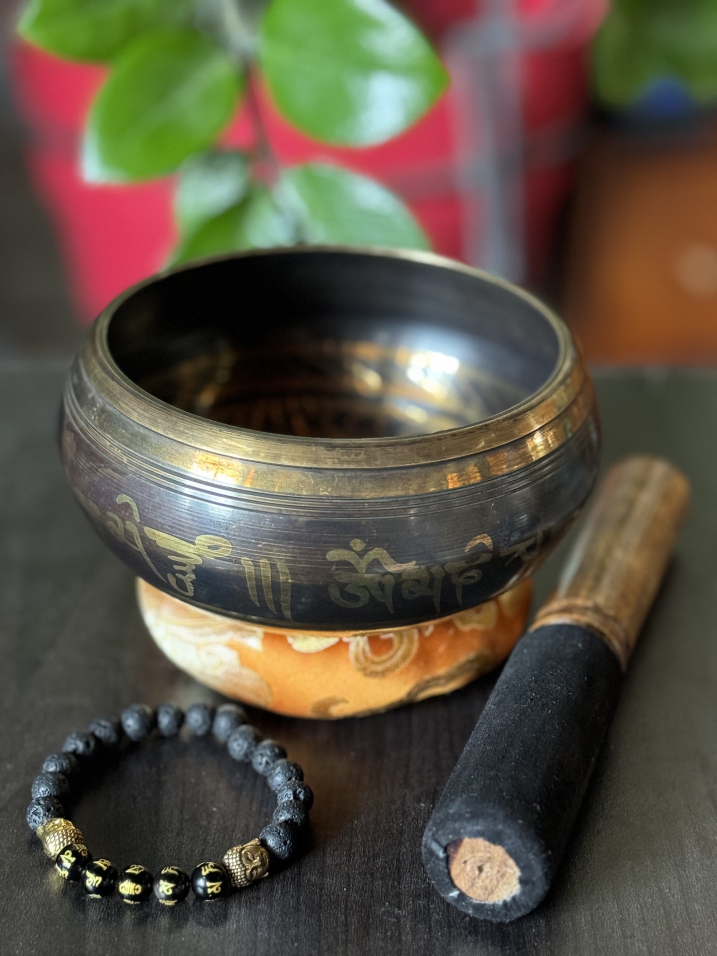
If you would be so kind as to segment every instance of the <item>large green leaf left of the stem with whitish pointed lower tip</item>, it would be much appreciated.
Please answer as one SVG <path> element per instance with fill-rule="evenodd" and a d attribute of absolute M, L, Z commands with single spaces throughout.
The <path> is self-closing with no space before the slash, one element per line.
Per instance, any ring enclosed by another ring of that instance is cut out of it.
<path fill-rule="evenodd" d="M 241 86 L 228 54 L 202 33 L 159 31 L 135 40 L 92 104 L 85 179 L 121 183 L 173 172 L 226 126 Z"/>

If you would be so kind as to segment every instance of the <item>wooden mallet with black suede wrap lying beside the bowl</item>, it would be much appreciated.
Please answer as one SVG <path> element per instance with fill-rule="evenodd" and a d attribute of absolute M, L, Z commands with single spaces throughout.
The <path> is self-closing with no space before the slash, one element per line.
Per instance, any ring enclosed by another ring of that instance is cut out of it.
<path fill-rule="evenodd" d="M 660 459 L 613 467 L 516 644 L 424 833 L 426 873 L 472 916 L 515 920 L 548 892 L 688 498 Z"/>

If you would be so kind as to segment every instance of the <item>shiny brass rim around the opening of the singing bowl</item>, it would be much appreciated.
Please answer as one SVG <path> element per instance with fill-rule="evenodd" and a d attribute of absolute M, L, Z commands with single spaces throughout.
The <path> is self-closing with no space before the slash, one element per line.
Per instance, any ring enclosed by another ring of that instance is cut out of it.
<path fill-rule="evenodd" d="M 551 326 L 557 343 L 557 358 L 547 380 L 522 402 L 473 424 L 418 435 L 381 438 L 306 438 L 254 431 L 234 424 L 213 422 L 192 412 L 163 402 L 141 388 L 121 371 L 109 346 L 108 332 L 113 316 L 128 299 L 146 286 L 178 272 L 202 269 L 212 263 L 256 256 L 315 255 L 321 252 L 346 255 L 379 256 L 422 263 L 459 272 L 505 290 L 526 302 Z M 570 331 L 554 312 L 511 282 L 489 272 L 456 262 L 434 252 L 381 249 L 359 246 L 292 246 L 275 249 L 245 250 L 212 256 L 184 266 L 168 269 L 130 287 L 114 299 L 98 316 L 90 335 L 97 352 L 85 350 L 88 372 L 103 397 L 137 424 L 166 439 L 202 448 L 210 454 L 268 465 L 312 468 L 386 469 L 425 465 L 475 455 L 525 439 L 554 422 L 574 403 L 584 389 L 590 388 L 582 362 L 576 362 L 576 347 Z M 591 401 L 581 403 L 583 420 L 590 413 Z M 573 422 L 573 426 L 581 424 Z M 550 445 L 550 442 L 548 442 Z M 535 454 L 528 456 L 534 460 Z M 520 456 L 524 458 L 524 456 Z M 516 458 L 516 465 L 518 459 Z M 525 462 L 523 462 L 525 464 Z M 509 468 L 508 470 L 512 470 Z"/>

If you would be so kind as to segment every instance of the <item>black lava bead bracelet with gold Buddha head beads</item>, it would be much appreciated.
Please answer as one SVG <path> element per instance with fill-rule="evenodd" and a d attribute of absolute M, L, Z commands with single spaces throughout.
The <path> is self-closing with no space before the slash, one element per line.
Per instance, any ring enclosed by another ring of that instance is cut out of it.
<path fill-rule="evenodd" d="M 143 704 L 126 707 L 120 721 L 99 719 L 85 733 L 71 733 L 61 753 L 52 753 L 33 782 L 33 801 L 28 807 L 30 828 L 39 836 L 45 853 L 53 858 L 66 880 L 79 881 L 85 893 L 100 899 L 115 889 L 127 903 L 140 903 L 154 892 L 165 906 L 185 899 L 191 886 L 200 900 L 217 900 L 233 889 L 242 889 L 269 876 L 270 867 L 289 862 L 298 852 L 308 825 L 314 793 L 304 783 L 304 772 L 286 750 L 273 740 L 263 739 L 247 723 L 244 709 L 235 704 L 216 708 L 193 704 L 186 712 L 173 704 L 156 710 Z M 179 733 L 183 724 L 196 736 L 210 731 L 227 745 L 234 760 L 250 763 L 267 778 L 276 793 L 277 807 L 272 822 L 248 843 L 232 846 L 221 863 L 203 862 L 191 876 L 178 866 L 165 866 L 156 877 L 134 863 L 118 872 L 108 859 L 93 859 L 84 836 L 64 817 L 60 798 L 70 790 L 70 780 L 82 763 L 102 751 L 117 750 L 123 736 L 133 743 L 147 738 L 157 728 L 163 737 Z"/>

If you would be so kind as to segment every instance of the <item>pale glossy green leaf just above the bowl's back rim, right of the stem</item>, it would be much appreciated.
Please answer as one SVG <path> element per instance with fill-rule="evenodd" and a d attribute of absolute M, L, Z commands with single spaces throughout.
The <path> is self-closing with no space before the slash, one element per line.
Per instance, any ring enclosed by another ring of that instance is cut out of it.
<path fill-rule="evenodd" d="M 430 249 L 398 196 L 348 169 L 293 166 L 281 177 L 278 196 L 292 209 L 307 242 Z"/>

